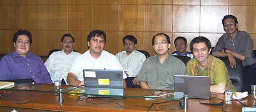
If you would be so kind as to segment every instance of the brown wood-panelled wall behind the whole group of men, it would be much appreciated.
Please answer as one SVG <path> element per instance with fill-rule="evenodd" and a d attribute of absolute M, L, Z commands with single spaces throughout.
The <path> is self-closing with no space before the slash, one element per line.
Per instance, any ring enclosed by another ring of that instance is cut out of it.
<path fill-rule="evenodd" d="M 105 50 L 112 54 L 123 50 L 121 39 L 128 34 L 137 37 L 137 49 L 151 55 L 151 39 L 159 32 L 171 37 L 170 53 L 179 35 L 187 37 L 188 44 L 203 35 L 215 46 L 224 33 L 226 14 L 238 18 L 239 29 L 251 35 L 256 49 L 255 6 L 255 0 L 1 0 L 0 54 L 14 50 L 12 39 L 19 29 L 32 32 L 30 52 L 37 55 L 61 49 L 61 36 L 67 32 L 76 39 L 74 49 L 84 53 L 87 35 L 95 29 L 106 32 Z"/>

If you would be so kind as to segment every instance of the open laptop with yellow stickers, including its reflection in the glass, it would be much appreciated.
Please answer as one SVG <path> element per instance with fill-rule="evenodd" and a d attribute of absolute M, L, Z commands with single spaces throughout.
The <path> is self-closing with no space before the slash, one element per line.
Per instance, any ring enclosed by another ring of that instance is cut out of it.
<path fill-rule="evenodd" d="M 87 96 L 123 96 L 123 70 L 83 70 Z"/>

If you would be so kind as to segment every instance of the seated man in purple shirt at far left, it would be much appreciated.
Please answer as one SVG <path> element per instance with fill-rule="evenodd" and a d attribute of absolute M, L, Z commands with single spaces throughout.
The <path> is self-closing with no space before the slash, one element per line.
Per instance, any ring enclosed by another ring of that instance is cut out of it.
<path fill-rule="evenodd" d="M 14 52 L 0 61 L 0 80 L 32 78 L 36 83 L 52 83 L 48 70 L 38 55 L 29 53 L 32 35 L 18 30 L 13 37 Z"/>

